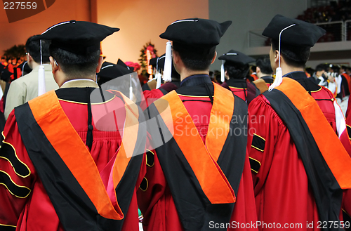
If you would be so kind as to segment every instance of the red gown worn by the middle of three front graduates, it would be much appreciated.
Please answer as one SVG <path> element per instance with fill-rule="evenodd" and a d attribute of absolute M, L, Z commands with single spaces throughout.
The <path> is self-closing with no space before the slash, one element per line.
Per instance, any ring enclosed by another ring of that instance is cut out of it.
<path fill-rule="evenodd" d="M 216 84 L 213 85 L 216 86 Z M 184 87 L 183 89 L 187 87 Z M 189 113 L 192 123 L 194 123 L 194 126 L 196 127 L 196 131 L 194 131 L 194 129 L 190 129 L 188 130 L 188 133 L 198 133 L 202 143 L 206 145 L 206 137 L 208 136 L 209 129 L 208 118 L 210 118 L 212 105 L 210 99 L 208 96 L 206 96 L 204 86 L 192 86 L 192 88 L 187 88 L 184 91 L 182 88 L 179 88 L 177 92 L 178 96 L 176 97 L 183 100 L 183 104 L 186 109 L 185 113 Z M 186 92 L 188 92 L 187 95 L 185 95 Z M 191 93 L 191 95 L 189 93 Z M 216 98 L 216 90 L 214 97 Z M 240 99 L 236 98 L 236 100 Z M 187 119 L 190 119 L 190 117 L 187 117 Z M 183 132 L 183 136 L 189 136 L 189 134 L 185 134 L 186 131 Z M 220 140 L 218 140 L 218 143 L 219 142 Z M 166 145 L 167 144 L 168 143 L 166 143 Z M 194 145 L 194 143 L 192 140 L 188 140 L 187 145 Z M 147 187 L 140 188 L 138 191 L 138 202 L 140 210 L 144 215 L 144 230 L 187 230 L 183 227 L 180 221 L 180 216 L 178 215 L 176 204 L 167 183 L 164 171 L 162 171 L 159 158 L 157 157 L 157 152 L 154 150 L 148 152 L 147 162 L 149 162 L 150 155 L 153 157 L 153 161 L 147 165 L 147 173 L 145 175 Z M 198 158 L 199 160 L 201 159 L 201 157 Z M 225 230 L 234 230 L 235 225 L 239 225 L 239 223 L 256 223 L 256 209 L 253 199 L 253 188 L 248 160 L 248 155 L 246 153 L 244 170 L 242 171 L 239 189 L 235 195 L 236 203 L 230 218 L 230 224 L 232 225 L 227 227 Z M 213 188 L 211 190 L 214 191 L 216 189 Z M 195 214 L 197 213 L 195 212 Z M 206 223 L 203 225 L 204 227 L 211 227 L 211 224 Z M 244 230 L 256 230 L 256 227 L 250 226 L 247 229 L 244 228 Z"/>

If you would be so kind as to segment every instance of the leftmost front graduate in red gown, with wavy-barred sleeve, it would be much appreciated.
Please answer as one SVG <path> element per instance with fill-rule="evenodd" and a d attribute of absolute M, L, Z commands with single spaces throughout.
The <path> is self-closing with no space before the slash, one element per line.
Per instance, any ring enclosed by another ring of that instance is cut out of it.
<path fill-rule="evenodd" d="M 139 230 L 143 112 L 95 82 L 100 41 L 117 31 L 71 20 L 37 37 L 51 40 L 60 88 L 8 117 L 0 150 L 0 230 Z"/>

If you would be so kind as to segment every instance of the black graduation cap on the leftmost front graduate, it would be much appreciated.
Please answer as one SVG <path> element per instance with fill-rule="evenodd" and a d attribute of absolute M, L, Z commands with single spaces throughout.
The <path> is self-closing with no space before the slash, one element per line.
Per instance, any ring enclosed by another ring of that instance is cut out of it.
<path fill-rule="evenodd" d="M 93 22 L 71 20 L 46 29 L 37 39 L 51 40 L 51 44 L 65 51 L 85 55 L 100 50 L 100 41 L 118 32 L 119 28 Z"/>

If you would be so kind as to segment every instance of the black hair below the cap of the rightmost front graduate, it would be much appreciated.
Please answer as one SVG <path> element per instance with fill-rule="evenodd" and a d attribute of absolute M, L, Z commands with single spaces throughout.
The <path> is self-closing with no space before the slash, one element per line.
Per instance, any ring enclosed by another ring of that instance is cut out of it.
<path fill-rule="evenodd" d="M 273 51 L 279 51 L 279 41 L 272 39 Z M 305 64 L 310 58 L 309 46 L 295 46 L 290 44 L 280 44 L 280 54 L 284 58 L 287 65 L 292 67 L 305 67 Z"/>

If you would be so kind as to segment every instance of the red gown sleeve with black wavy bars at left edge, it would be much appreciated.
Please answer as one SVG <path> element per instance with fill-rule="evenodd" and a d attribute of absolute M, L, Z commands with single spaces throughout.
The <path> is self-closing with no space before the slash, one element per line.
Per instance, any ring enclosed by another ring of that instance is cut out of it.
<path fill-rule="evenodd" d="M 0 230 L 15 230 L 37 174 L 22 143 L 14 111 L 8 117 L 3 136 L 0 150 Z"/>

